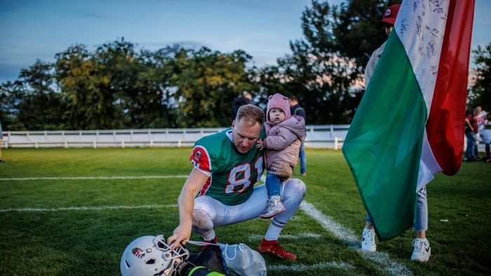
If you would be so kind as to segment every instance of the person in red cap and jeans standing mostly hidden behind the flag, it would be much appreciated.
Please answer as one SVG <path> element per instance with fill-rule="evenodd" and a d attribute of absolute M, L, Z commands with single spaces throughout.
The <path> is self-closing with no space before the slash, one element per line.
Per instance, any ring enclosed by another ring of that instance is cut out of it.
<path fill-rule="evenodd" d="M 396 4 L 387 8 L 384 13 L 382 20 L 377 24 L 377 26 L 384 26 L 385 33 L 387 36 L 394 29 L 394 23 L 396 22 L 397 13 L 399 11 L 400 4 Z M 365 87 L 368 86 L 372 73 L 379 61 L 380 55 L 385 47 L 384 42 L 377 50 L 372 53 L 367 66 L 365 67 Z M 390 76 L 388 76 L 390 77 Z M 394 91 L 396 92 L 396 91 Z M 382 116 L 382 114 L 381 114 Z M 368 214 L 366 214 L 366 225 L 363 229 L 361 235 L 361 249 L 363 251 L 375 252 L 377 251 L 377 245 L 375 244 L 375 230 L 372 224 L 372 220 Z M 429 246 L 429 240 L 426 239 L 426 230 L 428 228 L 428 200 L 426 198 L 426 186 L 423 186 L 419 191 L 417 191 L 417 202 L 416 202 L 416 217 L 414 230 L 417 233 L 417 237 L 412 242 L 411 260 L 412 261 L 428 261 L 431 255 L 431 248 Z"/>

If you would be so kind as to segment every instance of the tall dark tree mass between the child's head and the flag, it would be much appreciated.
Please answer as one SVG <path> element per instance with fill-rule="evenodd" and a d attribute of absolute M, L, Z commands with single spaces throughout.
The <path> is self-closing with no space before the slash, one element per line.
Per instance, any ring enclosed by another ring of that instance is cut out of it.
<path fill-rule="evenodd" d="M 386 39 L 376 25 L 387 6 L 382 0 L 312 1 L 302 13 L 304 37 L 290 42 L 292 55 L 278 59 L 277 69 L 260 71 L 264 92 L 297 95 L 307 123 L 349 123 L 363 95 L 365 64 Z"/>

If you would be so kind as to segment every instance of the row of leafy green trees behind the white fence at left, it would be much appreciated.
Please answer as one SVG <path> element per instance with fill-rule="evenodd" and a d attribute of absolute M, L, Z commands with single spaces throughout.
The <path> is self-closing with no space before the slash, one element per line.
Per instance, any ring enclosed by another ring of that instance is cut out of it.
<path fill-rule="evenodd" d="M 137 53 L 123 39 L 74 45 L 1 84 L 0 120 L 5 130 L 227 126 L 234 98 L 255 88 L 251 58 L 176 45 Z"/>

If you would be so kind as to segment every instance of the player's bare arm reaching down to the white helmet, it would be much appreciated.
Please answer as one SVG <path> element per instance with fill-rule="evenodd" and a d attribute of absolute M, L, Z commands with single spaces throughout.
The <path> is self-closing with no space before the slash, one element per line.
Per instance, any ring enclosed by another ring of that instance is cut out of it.
<path fill-rule="evenodd" d="M 208 175 L 193 168 L 184 186 L 182 186 L 179 199 L 177 200 L 177 205 L 179 206 L 179 226 L 174 229 L 173 235 L 167 239 L 167 244 L 170 244 L 172 249 L 179 247 L 183 240 L 188 240 L 191 237 L 194 197 L 206 183 L 207 179 Z"/>

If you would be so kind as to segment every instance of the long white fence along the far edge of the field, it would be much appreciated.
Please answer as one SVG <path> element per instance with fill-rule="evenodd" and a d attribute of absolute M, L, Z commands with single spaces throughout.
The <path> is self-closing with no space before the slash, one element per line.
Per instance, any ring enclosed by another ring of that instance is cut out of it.
<path fill-rule="evenodd" d="M 340 149 L 349 125 L 307 125 L 307 148 Z M 4 132 L 4 148 L 100 148 L 193 146 L 203 136 L 220 132 L 216 128 L 166 128 L 147 130 L 55 130 Z"/>

